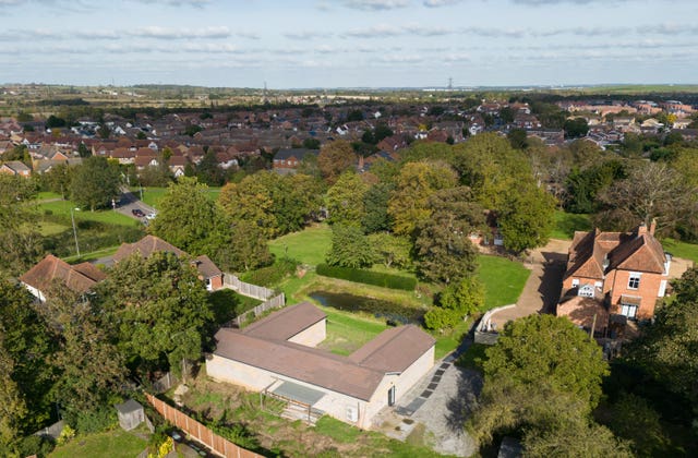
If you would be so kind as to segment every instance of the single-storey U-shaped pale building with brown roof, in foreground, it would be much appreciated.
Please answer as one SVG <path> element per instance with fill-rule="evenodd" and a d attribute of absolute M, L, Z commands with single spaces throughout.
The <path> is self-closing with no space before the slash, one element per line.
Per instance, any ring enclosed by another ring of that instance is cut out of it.
<path fill-rule="evenodd" d="M 393 327 L 348 357 L 315 348 L 327 316 L 309 302 L 243 328 L 221 328 L 207 374 L 368 429 L 434 364 L 435 340 L 416 326 Z"/>

